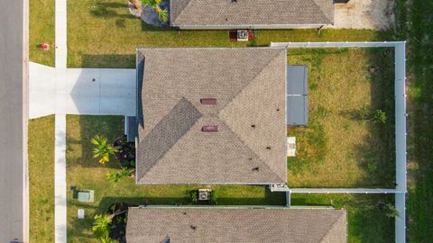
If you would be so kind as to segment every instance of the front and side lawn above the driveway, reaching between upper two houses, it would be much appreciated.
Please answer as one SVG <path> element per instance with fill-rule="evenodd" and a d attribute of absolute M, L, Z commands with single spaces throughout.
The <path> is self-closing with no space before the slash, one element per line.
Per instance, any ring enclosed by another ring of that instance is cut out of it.
<path fill-rule="evenodd" d="M 129 14 L 124 0 L 68 1 L 68 67 L 135 67 L 137 47 L 244 47 L 228 31 L 174 31 L 144 24 Z M 271 41 L 386 40 L 366 30 L 283 30 L 257 34 L 257 45 Z"/>

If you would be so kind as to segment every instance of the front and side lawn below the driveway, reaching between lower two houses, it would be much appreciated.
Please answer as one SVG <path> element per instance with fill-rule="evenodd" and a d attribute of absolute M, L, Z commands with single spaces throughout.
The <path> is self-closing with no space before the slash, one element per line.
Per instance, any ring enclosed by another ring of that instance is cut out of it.
<path fill-rule="evenodd" d="M 67 117 L 67 183 L 78 189 L 95 190 L 95 202 L 78 202 L 68 192 L 69 242 L 98 242 L 91 232 L 93 217 L 105 212 L 115 202 L 134 204 L 190 204 L 189 191 L 208 187 L 217 193 L 221 205 L 284 205 L 284 193 L 270 193 L 263 186 L 205 186 L 205 185 L 137 185 L 133 178 L 126 178 L 116 186 L 106 181 L 106 172 L 119 169 L 115 161 L 106 166 L 97 164 L 92 157 L 90 139 L 105 135 L 113 141 L 122 135 L 123 121 L 119 116 Z M 77 219 L 78 208 L 86 211 L 86 219 Z"/>

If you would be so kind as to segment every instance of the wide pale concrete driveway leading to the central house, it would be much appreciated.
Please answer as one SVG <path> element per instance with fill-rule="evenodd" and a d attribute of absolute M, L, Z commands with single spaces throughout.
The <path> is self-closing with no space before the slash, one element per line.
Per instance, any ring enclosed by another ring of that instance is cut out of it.
<path fill-rule="evenodd" d="M 29 117 L 135 115 L 135 69 L 58 68 L 30 63 Z"/>

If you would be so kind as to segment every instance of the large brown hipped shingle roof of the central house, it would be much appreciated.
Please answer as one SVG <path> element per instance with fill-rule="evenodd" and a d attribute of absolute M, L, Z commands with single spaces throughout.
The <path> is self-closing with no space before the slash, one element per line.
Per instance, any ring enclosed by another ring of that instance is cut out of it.
<path fill-rule="evenodd" d="M 137 55 L 139 81 L 143 76 L 137 183 L 287 182 L 286 49 L 138 49 Z M 203 132 L 208 125 L 217 132 Z"/>

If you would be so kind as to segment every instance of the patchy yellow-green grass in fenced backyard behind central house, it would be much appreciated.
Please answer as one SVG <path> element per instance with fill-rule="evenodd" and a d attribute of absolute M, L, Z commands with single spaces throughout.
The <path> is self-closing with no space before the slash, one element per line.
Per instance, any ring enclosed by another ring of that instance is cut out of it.
<path fill-rule="evenodd" d="M 395 187 L 393 50 L 289 49 L 288 63 L 309 67 L 309 125 L 289 128 L 289 186 Z M 385 123 L 364 114 L 378 109 Z"/>

